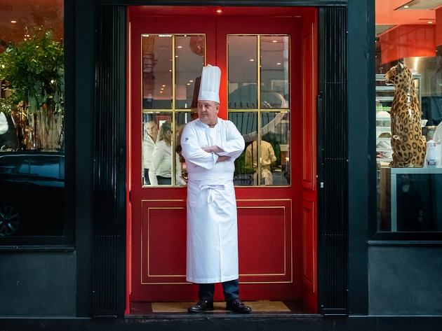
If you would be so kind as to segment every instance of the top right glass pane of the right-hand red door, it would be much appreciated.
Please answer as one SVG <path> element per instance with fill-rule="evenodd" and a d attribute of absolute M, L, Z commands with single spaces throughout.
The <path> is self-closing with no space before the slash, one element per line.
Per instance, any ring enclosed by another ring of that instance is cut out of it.
<path fill-rule="evenodd" d="M 288 108 L 288 36 L 260 36 L 261 108 Z"/>

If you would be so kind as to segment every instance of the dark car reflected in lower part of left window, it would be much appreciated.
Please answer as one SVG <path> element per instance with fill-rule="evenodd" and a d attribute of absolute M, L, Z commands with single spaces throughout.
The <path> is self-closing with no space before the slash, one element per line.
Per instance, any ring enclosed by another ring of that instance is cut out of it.
<path fill-rule="evenodd" d="M 65 155 L 0 153 L 0 237 L 63 234 Z"/>

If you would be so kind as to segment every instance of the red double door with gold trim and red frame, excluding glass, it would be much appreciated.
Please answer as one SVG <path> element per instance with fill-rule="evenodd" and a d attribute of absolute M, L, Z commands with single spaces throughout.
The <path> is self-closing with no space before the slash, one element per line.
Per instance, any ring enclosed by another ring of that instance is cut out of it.
<path fill-rule="evenodd" d="M 192 301 L 185 281 L 185 187 L 142 185 L 142 45 L 146 34 L 205 36 L 206 64 L 220 66 L 221 118 L 227 119 L 227 37 L 290 38 L 291 184 L 237 186 L 239 281 L 243 300 L 316 300 L 316 155 L 314 8 L 150 8 L 129 10 L 128 272 L 130 301 Z M 229 9 L 231 11 L 229 11 Z M 226 16 L 229 12 L 233 15 Z M 267 13 L 268 12 L 268 13 Z M 205 15 L 194 15 L 203 13 Z M 268 15 L 263 15 L 267 13 Z M 192 15 L 193 14 L 193 15 Z M 206 15 L 207 14 L 207 15 Z M 282 152 L 281 152 L 282 153 Z M 288 159 L 287 159 L 288 160 Z M 215 300 L 223 300 L 217 285 Z"/>

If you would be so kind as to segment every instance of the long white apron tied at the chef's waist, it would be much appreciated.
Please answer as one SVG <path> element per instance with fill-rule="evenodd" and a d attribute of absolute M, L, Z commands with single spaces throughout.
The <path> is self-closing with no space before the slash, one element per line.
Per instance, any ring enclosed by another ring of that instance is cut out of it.
<path fill-rule="evenodd" d="M 238 232 L 232 178 L 187 183 L 187 281 L 238 279 Z"/>

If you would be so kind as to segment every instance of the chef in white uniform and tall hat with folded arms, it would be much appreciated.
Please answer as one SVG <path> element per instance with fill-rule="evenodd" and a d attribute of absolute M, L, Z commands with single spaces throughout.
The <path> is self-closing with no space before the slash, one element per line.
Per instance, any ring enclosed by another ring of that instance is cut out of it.
<path fill-rule="evenodd" d="M 238 231 L 233 184 L 234 160 L 244 149 L 243 136 L 229 120 L 217 117 L 221 71 L 203 67 L 199 118 L 181 137 L 187 182 L 187 281 L 199 283 L 199 302 L 190 313 L 213 311 L 215 283 L 222 283 L 226 310 L 249 313 L 239 300 Z"/>

